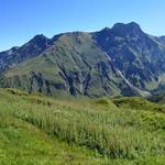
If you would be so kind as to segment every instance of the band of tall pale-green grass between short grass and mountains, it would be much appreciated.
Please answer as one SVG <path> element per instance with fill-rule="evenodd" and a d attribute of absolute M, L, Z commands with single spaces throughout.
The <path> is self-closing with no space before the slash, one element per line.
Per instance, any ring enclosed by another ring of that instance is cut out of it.
<path fill-rule="evenodd" d="M 4 97 L 9 102 L 1 99 L 1 114 L 8 111 L 48 134 L 86 145 L 105 157 L 165 156 L 164 113 L 119 109 L 105 99 L 65 101 L 13 94 Z"/>

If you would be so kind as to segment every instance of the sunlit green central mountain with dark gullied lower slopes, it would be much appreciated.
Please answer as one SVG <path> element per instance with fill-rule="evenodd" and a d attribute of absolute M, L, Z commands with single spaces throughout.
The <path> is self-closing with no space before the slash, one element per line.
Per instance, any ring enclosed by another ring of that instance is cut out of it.
<path fill-rule="evenodd" d="M 63 34 L 36 57 L 1 76 L 1 87 L 54 95 L 135 95 L 88 33 Z M 127 91 L 129 91 L 127 94 Z"/>

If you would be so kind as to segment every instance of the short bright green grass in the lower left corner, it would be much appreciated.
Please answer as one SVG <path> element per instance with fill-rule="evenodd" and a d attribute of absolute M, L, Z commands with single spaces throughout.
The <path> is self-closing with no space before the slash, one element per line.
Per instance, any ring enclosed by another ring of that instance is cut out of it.
<path fill-rule="evenodd" d="M 22 120 L 0 118 L 1 165 L 102 164 L 86 147 L 55 139 Z M 67 162 L 67 163 L 66 163 Z"/>

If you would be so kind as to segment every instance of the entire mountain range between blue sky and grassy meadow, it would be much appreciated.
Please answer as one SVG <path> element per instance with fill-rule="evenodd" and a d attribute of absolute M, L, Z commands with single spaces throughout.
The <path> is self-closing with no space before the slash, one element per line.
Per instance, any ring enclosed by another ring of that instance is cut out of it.
<path fill-rule="evenodd" d="M 36 35 L 0 53 L 0 87 L 50 96 L 146 96 L 165 75 L 165 40 L 131 22 L 99 32 Z"/>

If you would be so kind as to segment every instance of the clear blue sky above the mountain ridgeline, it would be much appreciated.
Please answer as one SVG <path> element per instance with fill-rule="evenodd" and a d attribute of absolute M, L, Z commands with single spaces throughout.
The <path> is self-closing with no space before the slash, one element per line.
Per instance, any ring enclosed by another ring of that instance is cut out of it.
<path fill-rule="evenodd" d="M 165 35 L 165 0 L 0 0 L 0 51 L 36 34 L 92 32 L 132 21 L 148 34 Z"/>

